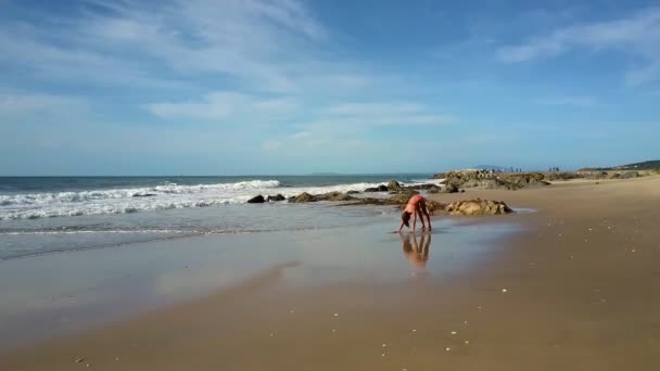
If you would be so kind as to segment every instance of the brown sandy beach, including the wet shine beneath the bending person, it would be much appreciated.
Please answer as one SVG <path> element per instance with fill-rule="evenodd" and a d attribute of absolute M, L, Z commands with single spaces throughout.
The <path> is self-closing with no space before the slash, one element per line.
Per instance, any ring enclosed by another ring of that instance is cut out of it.
<path fill-rule="evenodd" d="M 660 177 L 436 199 L 475 196 L 537 213 L 459 218 L 458 238 L 436 220 L 430 242 L 352 234 L 360 229 L 344 231 L 350 240 L 297 236 L 303 257 L 210 296 L 5 353 L 0 369 L 658 368 Z M 482 239 L 503 221 L 524 229 Z"/>

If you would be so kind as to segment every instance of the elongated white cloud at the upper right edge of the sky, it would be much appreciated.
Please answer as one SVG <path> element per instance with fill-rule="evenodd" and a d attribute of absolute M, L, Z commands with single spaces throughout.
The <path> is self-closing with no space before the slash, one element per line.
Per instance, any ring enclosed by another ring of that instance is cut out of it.
<path fill-rule="evenodd" d="M 557 29 L 526 42 L 506 46 L 497 51 L 502 62 L 520 63 L 554 56 L 572 49 L 593 52 L 618 51 L 646 62 L 631 71 L 627 82 L 645 84 L 660 77 L 660 8 L 638 11 L 627 17 Z"/>

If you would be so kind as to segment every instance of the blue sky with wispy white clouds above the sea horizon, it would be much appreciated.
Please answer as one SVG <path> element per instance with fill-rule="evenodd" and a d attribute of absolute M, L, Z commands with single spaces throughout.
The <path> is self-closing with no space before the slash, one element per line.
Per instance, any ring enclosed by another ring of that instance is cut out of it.
<path fill-rule="evenodd" d="M 657 1 L 0 0 L 0 176 L 660 158 Z"/>

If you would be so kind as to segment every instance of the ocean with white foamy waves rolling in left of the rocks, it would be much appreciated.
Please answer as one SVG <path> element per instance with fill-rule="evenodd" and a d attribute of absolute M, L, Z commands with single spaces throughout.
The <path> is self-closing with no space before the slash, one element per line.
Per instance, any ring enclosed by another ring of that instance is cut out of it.
<path fill-rule="evenodd" d="M 330 229 L 393 217 L 392 207 L 330 203 L 248 204 L 364 191 L 395 179 L 432 181 L 429 174 L 244 177 L 0 177 L 0 260 L 103 248 L 198 234 Z M 393 228 L 396 227 L 393 219 Z"/>

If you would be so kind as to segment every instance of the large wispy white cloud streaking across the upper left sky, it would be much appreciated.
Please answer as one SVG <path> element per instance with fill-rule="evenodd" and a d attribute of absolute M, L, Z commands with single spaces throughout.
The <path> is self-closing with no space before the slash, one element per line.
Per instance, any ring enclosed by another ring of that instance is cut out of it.
<path fill-rule="evenodd" d="M 61 16 L 56 23 L 65 27 L 54 30 L 37 20 L 3 22 L 0 61 L 47 79 L 157 87 L 202 74 L 291 91 L 296 64 L 305 61 L 290 52 L 327 38 L 307 8 L 291 0 L 86 1 L 78 8 L 72 12 L 80 16 Z"/>

